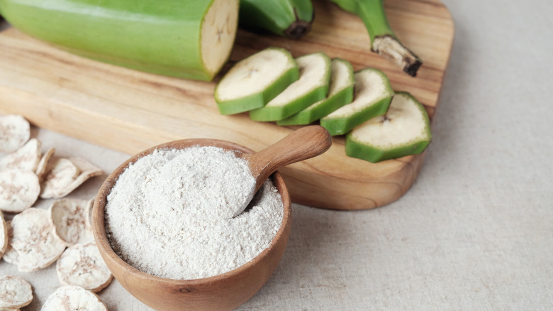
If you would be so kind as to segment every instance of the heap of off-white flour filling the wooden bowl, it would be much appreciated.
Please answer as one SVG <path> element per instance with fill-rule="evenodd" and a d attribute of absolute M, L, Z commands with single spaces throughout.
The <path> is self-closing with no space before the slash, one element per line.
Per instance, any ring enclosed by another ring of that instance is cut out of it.
<path fill-rule="evenodd" d="M 267 249 L 284 209 L 270 180 L 245 212 L 227 202 L 250 197 L 245 160 L 216 147 L 157 150 L 120 175 L 107 197 L 106 231 L 118 256 L 162 278 L 206 278 Z"/>

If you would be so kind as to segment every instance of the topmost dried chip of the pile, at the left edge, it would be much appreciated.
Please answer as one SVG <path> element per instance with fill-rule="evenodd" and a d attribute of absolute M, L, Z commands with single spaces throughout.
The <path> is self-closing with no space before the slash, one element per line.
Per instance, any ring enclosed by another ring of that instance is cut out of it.
<path fill-rule="evenodd" d="M 29 122 L 18 114 L 0 116 L 0 152 L 12 152 L 30 138 Z"/>

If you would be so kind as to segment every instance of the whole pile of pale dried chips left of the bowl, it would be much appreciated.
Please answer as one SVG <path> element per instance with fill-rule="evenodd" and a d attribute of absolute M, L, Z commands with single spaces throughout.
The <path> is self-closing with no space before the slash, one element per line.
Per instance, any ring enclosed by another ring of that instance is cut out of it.
<path fill-rule="evenodd" d="M 113 275 L 101 258 L 91 231 L 93 200 L 63 198 L 103 172 L 84 158 L 55 158 L 54 148 L 41 153 L 22 116 L 0 116 L 0 258 L 30 272 L 57 261 L 58 288 L 42 310 L 62 303 L 86 310 L 107 310 L 94 293 Z M 38 200 L 57 199 L 49 209 Z M 3 212 L 13 214 L 6 222 Z M 4 290 L 11 288 L 12 290 Z M 30 285 L 16 276 L 0 277 L 0 310 L 16 310 L 33 300 Z"/>

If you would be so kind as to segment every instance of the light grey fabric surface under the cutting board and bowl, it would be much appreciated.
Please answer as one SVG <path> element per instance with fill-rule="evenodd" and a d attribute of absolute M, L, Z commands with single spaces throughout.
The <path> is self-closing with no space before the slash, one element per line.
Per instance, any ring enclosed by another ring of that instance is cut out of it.
<path fill-rule="evenodd" d="M 418 180 L 374 210 L 295 204 L 283 260 L 240 310 L 553 310 L 553 2 L 443 1 L 456 36 Z M 127 158 L 33 136 L 106 171 Z M 72 196 L 93 196 L 102 179 Z M 2 261 L 0 273 L 33 285 L 23 310 L 58 286 L 53 267 L 18 273 Z M 101 298 L 147 310 L 116 282 Z"/>

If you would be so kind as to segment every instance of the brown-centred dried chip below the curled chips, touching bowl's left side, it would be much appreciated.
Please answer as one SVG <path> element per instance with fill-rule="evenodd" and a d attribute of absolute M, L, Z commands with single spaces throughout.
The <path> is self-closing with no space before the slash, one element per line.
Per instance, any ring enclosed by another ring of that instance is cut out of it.
<path fill-rule="evenodd" d="M 94 241 L 91 228 L 86 225 L 88 204 L 89 200 L 61 199 L 50 205 L 50 218 L 56 234 L 67 246 Z"/>

